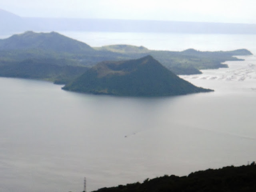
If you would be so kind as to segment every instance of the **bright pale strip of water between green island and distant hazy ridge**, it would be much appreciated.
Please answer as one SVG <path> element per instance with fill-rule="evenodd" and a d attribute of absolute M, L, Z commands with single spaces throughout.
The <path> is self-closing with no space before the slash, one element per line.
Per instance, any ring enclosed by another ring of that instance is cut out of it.
<path fill-rule="evenodd" d="M 130 33 L 130 32 L 74 32 L 60 31 L 68 37 L 90 46 L 129 44 L 151 50 L 183 51 L 194 48 L 200 51 L 249 49 L 256 54 L 256 35 L 241 34 L 179 34 L 179 33 Z"/>

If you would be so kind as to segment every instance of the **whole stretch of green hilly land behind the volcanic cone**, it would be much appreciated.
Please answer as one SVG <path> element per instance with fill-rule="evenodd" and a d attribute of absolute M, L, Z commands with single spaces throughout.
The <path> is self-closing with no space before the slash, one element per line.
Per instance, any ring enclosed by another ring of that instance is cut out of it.
<path fill-rule="evenodd" d="M 0 76 L 68 84 L 103 61 L 136 60 L 151 55 L 174 74 L 200 74 L 201 69 L 227 67 L 222 62 L 250 55 L 245 49 L 228 52 L 149 50 L 143 46 L 111 45 L 92 48 L 56 32 L 32 31 L 0 40 Z"/>

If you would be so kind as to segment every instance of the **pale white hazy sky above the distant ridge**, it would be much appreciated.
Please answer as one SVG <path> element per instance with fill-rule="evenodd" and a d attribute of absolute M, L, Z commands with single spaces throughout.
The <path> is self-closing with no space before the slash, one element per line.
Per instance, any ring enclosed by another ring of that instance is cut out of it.
<path fill-rule="evenodd" d="M 256 0 L 1 0 L 19 16 L 256 23 Z"/>

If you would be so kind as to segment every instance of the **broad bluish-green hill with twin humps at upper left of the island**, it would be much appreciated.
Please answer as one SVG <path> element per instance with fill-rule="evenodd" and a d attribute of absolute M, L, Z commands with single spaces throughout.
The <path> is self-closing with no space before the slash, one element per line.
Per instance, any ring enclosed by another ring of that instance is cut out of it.
<path fill-rule="evenodd" d="M 56 32 L 35 33 L 28 31 L 0 40 L 0 50 L 48 50 L 55 52 L 82 53 L 94 51 L 87 44 Z"/>

